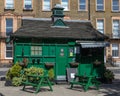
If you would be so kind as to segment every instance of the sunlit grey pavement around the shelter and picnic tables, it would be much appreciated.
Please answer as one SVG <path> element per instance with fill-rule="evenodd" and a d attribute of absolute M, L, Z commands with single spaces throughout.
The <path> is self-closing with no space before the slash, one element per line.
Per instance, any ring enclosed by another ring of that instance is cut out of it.
<path fill-rule="evenodd" d="M 5 81 L 0 81 L 0 96 L 120 96 L 120 67 L 110 67 L 115 73 L 115 80 L 112 84 L 102 84 L 99 90 L 94 87 L 84 92 L 81 86 L 70 89 L 69 84 L 57 84 L 53 86 L 53 92 L 48 87 L 41 88 L 40 92 L 35 94 L 31 87 L 28 91 L 22 91 L 22 87 L 5 86 Z M 3 76 L 8 68 L 0 68 L 0 76 Z"/>

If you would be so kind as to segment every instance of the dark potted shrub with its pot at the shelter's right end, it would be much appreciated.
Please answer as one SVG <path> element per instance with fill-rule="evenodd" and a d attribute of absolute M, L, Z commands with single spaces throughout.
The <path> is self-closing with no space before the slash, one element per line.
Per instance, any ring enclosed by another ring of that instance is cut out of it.
<path fill-rule="evenodd" d="M 104 78 L 106 83 L 112 83 L 114 80 L 114 73 L 111 70 L 106 69 L 104 72 Z"/>

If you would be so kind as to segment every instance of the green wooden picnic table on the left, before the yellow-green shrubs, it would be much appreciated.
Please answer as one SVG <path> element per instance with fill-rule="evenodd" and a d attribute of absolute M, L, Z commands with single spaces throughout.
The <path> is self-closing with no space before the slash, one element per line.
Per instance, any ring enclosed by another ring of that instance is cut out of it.
<path fill-rule="evenodd" d="M 25 90 L 26 86 L 33 86 L 36 88 L 35 93 L 38 93 L 40 88 L 42 86 L 48 86 L 50 88 L 50 91 L 53 91 L 52 84 L 49 81 L 48 75 L 27 75 L 27 80 L 25 82 L 22 82 L 23 84 L 23 90 Z"/>

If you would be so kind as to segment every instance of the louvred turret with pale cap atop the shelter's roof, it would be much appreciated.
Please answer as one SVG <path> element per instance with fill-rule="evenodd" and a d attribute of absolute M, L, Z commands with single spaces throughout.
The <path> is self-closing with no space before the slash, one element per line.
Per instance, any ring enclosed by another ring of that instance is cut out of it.
<path fill-rule="evenodd" d="M 63 20 L 64 14 L 63 14 L 64 8 L 60 4 L 55 4 L 55 6 L 52 8 L 52 21 L 55 22 L 57 19 Z"/>

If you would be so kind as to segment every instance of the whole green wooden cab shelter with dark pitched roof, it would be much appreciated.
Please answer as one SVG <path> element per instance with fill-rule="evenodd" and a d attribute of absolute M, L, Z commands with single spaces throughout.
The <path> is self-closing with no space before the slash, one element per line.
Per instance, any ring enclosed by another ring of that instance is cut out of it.
<path fill-rule="evenodd" d="M 55 80 L 66 80 L 66 69 L 76 68 L 89 75 L 95 61 L 94 74 L 101 77 L 104 69 L 105 35 L 93 28 L 90 21 L 63 20 L 63 8 L 52 9 L 52 19 L 22 19 L 21 27 L 11 35 L 14 62 L 28 59 L 27 67 L 54 69 Z"/>

